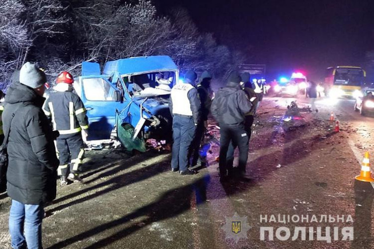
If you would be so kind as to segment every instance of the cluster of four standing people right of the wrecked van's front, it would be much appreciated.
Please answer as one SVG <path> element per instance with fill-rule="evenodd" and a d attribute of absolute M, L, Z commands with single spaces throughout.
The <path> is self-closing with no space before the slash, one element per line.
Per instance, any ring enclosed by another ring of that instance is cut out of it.
<path fill-rule="evenodd" d="M 222 182 L 232 177 L 243 177 L 248 160 L 248 144 L 258 93 L 252 87 L 249 73 L 232 72 L 226 87 L 214 96 L 210 87 L 211 75 L 204 72 L 200 85 L 197 74 L 190 70 L 184 81 L 171 89 L 169 101 L 173 115 L 173 147 L 171 171 L 181 175 L 197 172 L 189 169 L 199 161 L 199 150 L 211 112 L 220 127 L 219 170 Z M 233 167 L 234 151 L 239 149 L 239 165 Z M 201 160 L 201 159 L 200 159 Z M 205 162 L 201 160 L 201 166 Z"/>

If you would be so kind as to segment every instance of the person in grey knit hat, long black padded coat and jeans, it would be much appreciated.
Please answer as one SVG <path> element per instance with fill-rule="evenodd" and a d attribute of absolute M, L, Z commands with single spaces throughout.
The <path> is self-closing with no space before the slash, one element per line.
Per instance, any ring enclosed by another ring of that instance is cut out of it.
<path fill-rule="evenodd" d="M 9 230 L 13 248 L 42 248 L 44 205 L 56 197 L 58 159 L 53 132 L 42 111 L 46 76 L 27 62 L 5 98 L 3 122 L 8 141 Z M 13 117 L 14 116 L 14 117 Z M 13 117 L 13 120 L 12 120 Z M 24 232 L 25 228 L 25 232 Z"/>

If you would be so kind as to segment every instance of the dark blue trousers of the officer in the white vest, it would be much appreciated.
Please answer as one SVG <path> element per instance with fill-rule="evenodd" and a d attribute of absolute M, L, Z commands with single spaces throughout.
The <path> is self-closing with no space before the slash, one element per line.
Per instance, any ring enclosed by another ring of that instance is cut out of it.
<path fill-rule="evenodd" d="M 174 115 L 173 117 L 173 148 L 171 151 L 171 167 L 186 171 L 189 151 L 194 140 L 196 127 L 192 117 Z"/>

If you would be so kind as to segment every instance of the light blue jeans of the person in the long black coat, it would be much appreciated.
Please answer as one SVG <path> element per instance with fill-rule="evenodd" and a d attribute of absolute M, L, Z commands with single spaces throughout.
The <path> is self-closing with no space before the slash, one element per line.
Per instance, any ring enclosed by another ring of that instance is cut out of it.
<path fill-rule="evenodd" d="M 12 247 L 15 249 L 26 248 L 27 243 L 28 249 L 41 249 L 43 217 L 42 205 L 28 205 L 12 200 L 9 214 Z"/>

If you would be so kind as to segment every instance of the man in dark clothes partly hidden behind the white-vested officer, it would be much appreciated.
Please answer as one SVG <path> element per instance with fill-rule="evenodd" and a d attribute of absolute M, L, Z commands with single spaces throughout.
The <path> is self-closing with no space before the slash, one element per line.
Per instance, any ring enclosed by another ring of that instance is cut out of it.
<path fill-rule="evenodd" d="M 200 147 L 204 139 L 205 129 L 208 127 L 208 115 L 212 105 L 213 91 L 210 87 L 212 75 L 208 71 L 204 71 L 201 75 L 201 82 L 198 85 L 198 93 L 201 102 L 201 118 L 196 126 L 195 138 L 191 146 L 192 166 L 201 161 L 201 166 L 205 166 L 205 162 L 200 158 Z"/>

